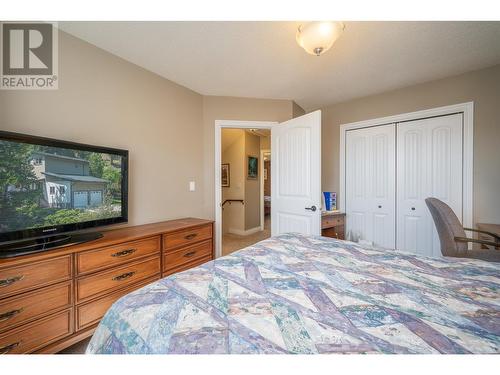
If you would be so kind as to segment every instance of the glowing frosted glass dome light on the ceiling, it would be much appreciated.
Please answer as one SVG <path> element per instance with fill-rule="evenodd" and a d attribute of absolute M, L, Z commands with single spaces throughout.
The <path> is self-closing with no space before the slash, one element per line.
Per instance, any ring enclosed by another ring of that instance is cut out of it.
<path fill-rule="evenodd" d="M 308 22 L 299 26 L 295 38 L 307 53 L 319 56 L 331 48 L 344 29 L 343 22 Z"/>

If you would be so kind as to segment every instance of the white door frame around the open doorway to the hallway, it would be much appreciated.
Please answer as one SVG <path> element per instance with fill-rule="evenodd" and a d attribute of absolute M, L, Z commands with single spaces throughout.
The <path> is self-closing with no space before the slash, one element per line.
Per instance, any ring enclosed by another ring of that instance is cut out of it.
<path fill-rule="evenodd" d="M 215 257 L 222 256 L 222 186 L 221 162 L 222 162 L 222 129 L 271 129 L 278 124 L 276 121 L 241 121 L 241 120 L 215 120 L 215 147 L 214 147 L 214 169 L 215 169 Z M 263 174 L 261 172 L 261 174 Z"/>

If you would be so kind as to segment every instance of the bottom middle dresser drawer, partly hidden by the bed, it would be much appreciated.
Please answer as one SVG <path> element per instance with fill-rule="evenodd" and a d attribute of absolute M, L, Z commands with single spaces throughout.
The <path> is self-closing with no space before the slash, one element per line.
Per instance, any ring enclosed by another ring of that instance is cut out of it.
<path fill-rule="evenodd" d="M 106 314 L 106 311 L 115 303 L 119 298 L 126 294 L 133 292 L 143 286 L 159 280 L 159 275 L 143 280 L 138 284 L 134 284 L 130 288 L 119 290 L 118 292 L 108 294 L 104 297 L 98 298 L 91 302 L 81 304 L 76 307 L 76 329 L 84 329 L 99 322 L 99 320 Z"/>

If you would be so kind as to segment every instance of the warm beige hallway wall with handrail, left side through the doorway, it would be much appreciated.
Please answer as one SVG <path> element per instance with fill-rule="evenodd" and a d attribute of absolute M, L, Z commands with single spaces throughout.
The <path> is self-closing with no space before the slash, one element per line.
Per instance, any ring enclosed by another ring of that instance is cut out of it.
<path fill-rule="evenodd" d="M 229 163 L 229 187 L 222 188 L 226 199 L 245 199 L 245 131 L 222 129 L 222 163 Z M 226 144 L 228 142 L 228 144 Z M 227 203 L 222 210 L 222 233 L 245 230 L 245 205 Z"/>

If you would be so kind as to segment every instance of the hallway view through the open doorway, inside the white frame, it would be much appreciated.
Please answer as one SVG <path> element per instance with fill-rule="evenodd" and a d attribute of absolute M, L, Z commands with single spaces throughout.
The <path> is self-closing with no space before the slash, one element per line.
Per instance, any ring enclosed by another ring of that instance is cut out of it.
<path fill-rule="evenodd" d="M 271 236 L 270 147 L 270 129 L 221 131 L 222 255 Z"/>

